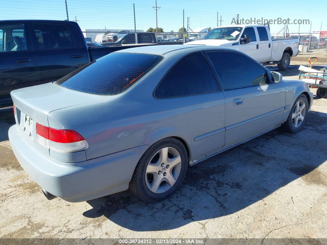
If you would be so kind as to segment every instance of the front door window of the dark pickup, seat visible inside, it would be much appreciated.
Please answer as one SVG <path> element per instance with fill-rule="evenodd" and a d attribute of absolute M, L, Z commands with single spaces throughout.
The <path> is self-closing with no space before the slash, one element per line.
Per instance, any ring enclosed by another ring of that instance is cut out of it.
<path fill-rule="evenodd" d="M 6 36 L 7 42 L 3 40 Z M 0 52 L 27 50 L 23 24 L 0 25 Z"/>

